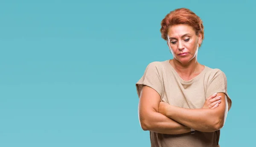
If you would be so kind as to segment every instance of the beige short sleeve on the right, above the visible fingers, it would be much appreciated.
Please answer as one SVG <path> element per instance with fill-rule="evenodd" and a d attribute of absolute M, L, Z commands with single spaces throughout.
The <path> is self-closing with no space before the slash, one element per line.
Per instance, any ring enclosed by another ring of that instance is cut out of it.
<path fill-rule="evenodd" d="M 209 82 L 206 88 L 206 98 L 209 98 L 209 96 L 213 95 L 214 93 L 220 92 L 226 94 L 228 110 L 230 110 L 232 101 L 227 93 L 227 77 L 225 73 L 222 72 L 220 69 L 215 69 L 209 77 Z"/>

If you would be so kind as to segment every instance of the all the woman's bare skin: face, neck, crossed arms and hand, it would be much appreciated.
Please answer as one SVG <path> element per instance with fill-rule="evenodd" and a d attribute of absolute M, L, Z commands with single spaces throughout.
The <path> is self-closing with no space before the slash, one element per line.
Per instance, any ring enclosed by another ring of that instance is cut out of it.
<path fill-rule="evenodd" d="M 167 44 L 173 55 L 170 64 L 185 81 L 199 75 L 204 69 L 197 60 L 201 43 L 201 34 L 197 35 L 191 26 L 180 24 L 169 28 Z M 160 95 L 154 89 L 143 86 L 138 113 L 143 130 L 163 134 L 188 133 L 190 128 L 213 132 L 223 127 L 227 107 L 224 93 L 212 94 L 201 109 L 185 109 L 161 102 Z"/>

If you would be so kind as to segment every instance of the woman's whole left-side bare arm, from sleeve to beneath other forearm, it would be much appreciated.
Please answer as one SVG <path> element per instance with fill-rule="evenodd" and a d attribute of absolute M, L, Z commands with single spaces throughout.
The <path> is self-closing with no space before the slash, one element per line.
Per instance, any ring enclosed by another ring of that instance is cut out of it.
<path fill-rule="evenodd" d="M 139 100 L 139 120 L 143 130 L 162 134 L 182 134 L 190 128 L 158 112 L 160 95 L 151 87 L 143 86 Z"/>

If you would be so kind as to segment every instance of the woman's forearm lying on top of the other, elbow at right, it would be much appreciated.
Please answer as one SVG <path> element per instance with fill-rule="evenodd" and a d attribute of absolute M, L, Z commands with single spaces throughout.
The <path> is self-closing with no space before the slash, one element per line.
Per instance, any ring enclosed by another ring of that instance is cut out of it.
<path fill-rule="evenodd" d="M 169 105 L 166 116 L 201 132 L 213 132 L 222 126 L 213 109 L 186 109 Z"/>

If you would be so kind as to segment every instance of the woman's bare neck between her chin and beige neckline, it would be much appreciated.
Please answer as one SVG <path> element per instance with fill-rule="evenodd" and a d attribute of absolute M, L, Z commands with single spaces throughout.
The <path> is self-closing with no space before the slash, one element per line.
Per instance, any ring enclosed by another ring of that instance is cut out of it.
<path fill-rule="evenodd" d="M 190 77 L 200 68 L 200 64 L 197 61 L 197 58 L 193 58 L 189 63 L 183 64 L 177 61 L 175 58 L 172 60 L 173 66 L 180 75 L 184 77 Z"/>

